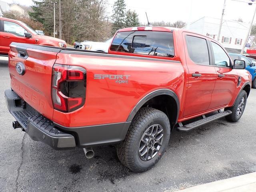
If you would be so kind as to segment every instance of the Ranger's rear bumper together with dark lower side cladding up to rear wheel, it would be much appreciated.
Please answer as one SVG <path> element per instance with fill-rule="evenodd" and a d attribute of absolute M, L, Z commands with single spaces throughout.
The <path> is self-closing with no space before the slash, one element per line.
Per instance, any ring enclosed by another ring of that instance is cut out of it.
<path fill-rule="evenodd" d="M 14 91 L 5 90 L 10 113 L 35 141 L 42 141 L 54 149 L 94 147 L 115 144 L 124 140 L 131 122 L 84 127 L 63 127 L 39 114 Z"/>

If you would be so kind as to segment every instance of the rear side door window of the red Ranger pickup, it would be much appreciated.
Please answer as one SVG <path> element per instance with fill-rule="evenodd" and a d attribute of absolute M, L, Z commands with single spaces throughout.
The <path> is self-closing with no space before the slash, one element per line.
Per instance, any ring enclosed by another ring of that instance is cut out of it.
<path fill-rule="evenodd" d="M 189 57 L 193 62 L 200 65 L 210 65 L 206 39 L 187 35 L 186 43 Z"/>

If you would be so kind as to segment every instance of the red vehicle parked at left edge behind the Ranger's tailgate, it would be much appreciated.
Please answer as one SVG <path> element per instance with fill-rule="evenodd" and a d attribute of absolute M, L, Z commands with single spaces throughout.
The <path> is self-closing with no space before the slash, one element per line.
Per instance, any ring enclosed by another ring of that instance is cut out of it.
<path fill-rule="evenodd" d="M 8 54 L 12 42 L 66 47 L 64 40 L 39 35 L 21 21 L 0 17 L 0 54 Z"/>

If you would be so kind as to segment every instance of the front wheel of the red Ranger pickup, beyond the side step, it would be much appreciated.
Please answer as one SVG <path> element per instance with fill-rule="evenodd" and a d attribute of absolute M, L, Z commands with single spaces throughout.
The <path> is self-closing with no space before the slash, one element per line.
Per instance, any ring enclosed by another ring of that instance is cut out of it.
<path fill-rule="evenodd" d="M 246 101 L 247 101 L 247 93 L 245 90 L 242 90 L 238 94 L 234 105 L 232 107 L 225 108 L 225 110 L 232 111 L 232 114 L 226 116 L 226 120 L 231 122 L 237 122 L 241 118 L 242 114 L 244 113 Z"/>

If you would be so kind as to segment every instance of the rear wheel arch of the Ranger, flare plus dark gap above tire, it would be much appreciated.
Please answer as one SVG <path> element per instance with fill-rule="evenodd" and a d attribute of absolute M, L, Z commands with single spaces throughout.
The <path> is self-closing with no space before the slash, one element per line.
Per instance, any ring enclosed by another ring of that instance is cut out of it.
<path fill-rule="evenodd" d="M 169 118 L 171 128 L 178 122 L 180 101 L 177 94 L 169 89 L 160 89 L 150 92 L 134 106 L 126 121 L 132 121 L 140 108 L 152 106 L 163 111 Z"/>

